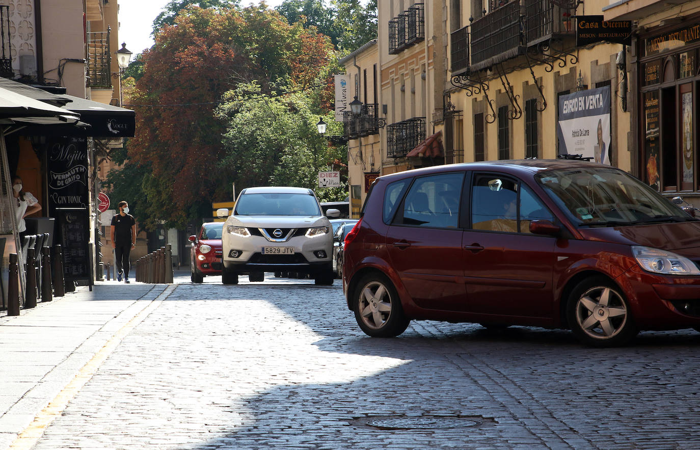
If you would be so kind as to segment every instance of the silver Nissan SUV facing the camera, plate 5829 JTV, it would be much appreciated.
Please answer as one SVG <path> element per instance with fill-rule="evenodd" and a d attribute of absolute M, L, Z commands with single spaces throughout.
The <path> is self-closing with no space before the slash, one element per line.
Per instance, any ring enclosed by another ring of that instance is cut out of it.
<path fill-rule="evenodd" d="M 217 211 L 218 216 L 226 213 Z M 326 214 L 336 217 L 339 211 Z M 332 226 L 311 189 L 242 190 L 224 224 L 221 244 L 224 284 L 237 284 L 239 274 L 263 281 L 265 272 L 296 272 L 313 277 L 316 284 L 333 283 Z"/>

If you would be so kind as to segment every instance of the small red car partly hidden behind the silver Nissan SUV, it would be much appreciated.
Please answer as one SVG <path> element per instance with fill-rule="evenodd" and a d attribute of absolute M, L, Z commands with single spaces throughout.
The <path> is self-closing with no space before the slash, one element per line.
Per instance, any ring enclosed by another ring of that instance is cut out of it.
<path fill-rule="evenodd" d="M 200 234 L 190 236 L 190 279 L 202 283 L 204 276 L 221 275 L 223 222 L 203 223 Z"/>

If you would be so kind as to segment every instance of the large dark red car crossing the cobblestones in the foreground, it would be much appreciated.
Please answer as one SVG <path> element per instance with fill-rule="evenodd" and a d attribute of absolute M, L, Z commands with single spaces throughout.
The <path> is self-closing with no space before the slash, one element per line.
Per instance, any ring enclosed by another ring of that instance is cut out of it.
<path fill-rule="evenodd" d="M 591 346 L 700 330 L 700 221 L 603 164 L 449 164 L 377 178 L 345 239 L 367 335 L 411 320 L 568 328 Z"/>

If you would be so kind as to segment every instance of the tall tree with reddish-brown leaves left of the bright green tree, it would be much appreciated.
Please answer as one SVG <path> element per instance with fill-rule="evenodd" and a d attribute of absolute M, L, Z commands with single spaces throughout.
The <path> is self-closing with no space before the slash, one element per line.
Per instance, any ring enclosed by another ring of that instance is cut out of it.
<path fill-rule="evenodd" d="M 257 83 L 277 94 L 314 83 L 332 57 L 328 39 L 288 24 L 264 5 L 206 9 L 190 6 L 155 34 L 141 55 L 143 76 L 128 103 L 137 111 L 137 136 L 128 143 L 141 181 L 146 225 L 181 226 L 209 216 L 212 199 L 229 199 L 240 167 L 220 164 L 225 122 L 214 110 L 228 90 Z"/>

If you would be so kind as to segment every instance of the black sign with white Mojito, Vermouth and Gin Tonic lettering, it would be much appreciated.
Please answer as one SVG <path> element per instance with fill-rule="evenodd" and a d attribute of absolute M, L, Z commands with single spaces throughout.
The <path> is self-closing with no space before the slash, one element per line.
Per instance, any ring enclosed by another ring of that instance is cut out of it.
<path fill-rule="evenodd" d="M 52 137 L 47 144 L 50 209 L 87 209 L 87 141 Z"/>

